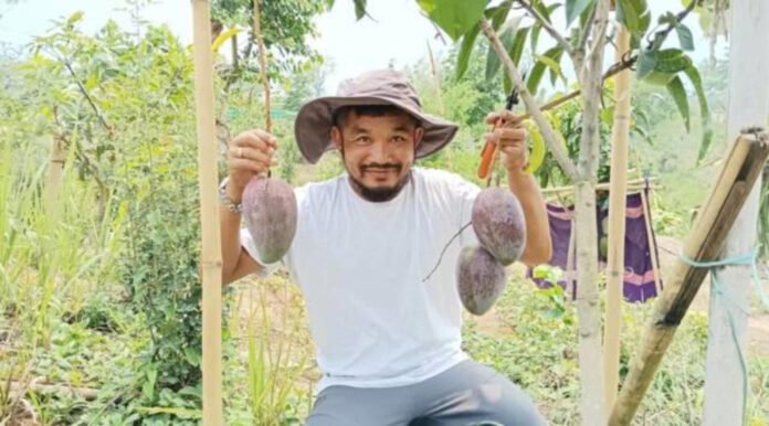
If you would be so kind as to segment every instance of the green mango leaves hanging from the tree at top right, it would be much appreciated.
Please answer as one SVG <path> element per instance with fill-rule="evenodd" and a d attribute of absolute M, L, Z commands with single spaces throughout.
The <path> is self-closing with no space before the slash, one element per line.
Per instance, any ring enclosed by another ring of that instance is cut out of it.
<path fill-rule="evenodd" d="M 431 19 L 443 30 L 449 32 L 453 39 L 462 38 L 460 52 L 457 55 L 457 76 L 461 77 L 473 56 L 474 45 L 478 35 L 478 25 L 470 25 L 467 21 L 472 19 L 477 22 L 482 17 L 488 19 L 494 29 L 497 30 L 499 39 L 508 50 L 509 57 L 520 68 L 528 66 L 527 88 L 531 93 L 539 89 L 542 76 L 549 72 L 550 82 L 555 84 L 563 76 L 563 58 L 570 57 L 572 65 L 577 67 L 581 58 L 582 49 L 580 43 L 586 39 L 586 32 L 590 29 L 590 17 L 596 6 L 594 0 L 571 0 L 566 2 L 563 8 L 567 19 L 567 36 L 562 41 L 556 41 L 555 45 L 545 50 L 539 49 L 539 34 L 542 30 L 552 30 L 552 13 L 561 3 L 541 0 L 516 0 L 495 3 L 485 10 L 477 11 L 477 6 L 485 6 L 485 1 L 476 1 L 465 4 L 462 18 L 454 12 L 457 8 L 455 2 L 445 0 L 420 1 L 422 9 Z M 518 12 L 512 12 L 514 3 L 523 7 L 527 11 L 525 18 L 517 17 Z M 692 64 L 692 60 L 684 51 L 693 49 L 691 31 L 682 22 L 691 12 L 694 2 L 685 11 L 674 14 L 665 13 L 659 18 L 659 25 L 650 30 L 651 13 L 645 0 L 620 0 L 618 1 L 618 21 L 626 26 L 633 38 L 633 51 L 630 52 L 626 61 L 635 63 L 636 76 L 650 84 L 661 84 L 666 86 L 671 96 L 678 106 L 687 130 L 689 129 L 689 108 L 688 97 L 683 85 L 682 75 L 688 78 L 695 88 L 699 102 L 699 111 L 703 121 L 703 141 L 698 152 L 702 160 L 713 140 L 713 131 L 709 126 L 709 109 L 704 94 L 702 78 L 697 68 Z M 515 13 L 510 17 L 510 13 Z M 664 28 L 663 28 L 664 26 Z M 660 29 L 662 28 L 662 29 Z M 452 31 L 447 29 L 453 29 Z M 680 40 L 680 49 L 662 49 L 663 42 L 667 36 L 675 32 Z M 647 44 L 642 46 L 642 40 L 646 39 Z M 568 52 L 568 55 L 563 53 Z M 496 53 L 488 50 L 486 55 L 487 72 L 489 79 L 496 79 L 499 74 L 499 60 Z M 527 64 L 527 65 L 526 65 Z M 622 64 L 618 64 L 622 65 Z M 577 71 L 579 72 L 579 70 Z M 506 73 L 503 73 L 503 86 L 507 92 L 510 82 Z"/>

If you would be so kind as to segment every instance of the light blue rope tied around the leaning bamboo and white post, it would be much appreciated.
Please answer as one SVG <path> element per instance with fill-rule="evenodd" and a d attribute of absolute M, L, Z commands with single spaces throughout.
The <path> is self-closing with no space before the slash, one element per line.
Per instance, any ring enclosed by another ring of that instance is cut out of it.
<path fill-rule="evenodd" d="M 698 262 L 695 259 L 692 259 L 686 256 L 680 256 L 682 260 L 685 263 L 696 267 L 696 268 L 708 268 L 710 269 L 710 275 L 713 276 L 713 279 L 710 281 L 710 287 L 712 287 L 712 294 L 716 295 L 717 300 L 723 301 L 727 300 L 735 307 L 737 307 L 739 310 L 741 310 L 746 316 L 748 315 L 748 308 L 739 306 L 735 300 L 733 300 L 729 295 L 726 292 L 726 289 L 724 285 L 721 284 L 720 276 L 718 275 L 718 270 L 724 267 L 724 266 L 736 266 L 736 265 L 742 265 L 742 266 L 750 266 L 751 267 L 751 275 L 752 275 L 752 281 L 756 285 L 756 289 L 758 292 L 759 298 L 761 299 L 761 302 L 763 303 L 765 308 L 769 310 L 769 297 L 767 297 L 766 292 L 763 291 L 763 287 L 761 287 L 761 281 L 758 275 L 758 254 L 759 254 L 759 248 L 760 246 L 757 246 L 754 249 L 754 253 L 750 254 L 744 254 L 744 255 L 737 255 L 733 257 L 728 257 L 725 259 L 720 260 L 715 260 L 715 262 Z M 735 324 L 735 319 L 734 316 L 731 315 L 730 310 L 726 310 L 727 318 L 729 320 L 729 332 L 731 334 L 731 340 L 735 344 L 735 349 L 737 350 L 737 354 L 739 355 L 739 363 L 742 369 L 742 424 L 745 424 L 745 418 L 747 415 L 747 404 L 748 404 L 748 363 L 745 360 L 745 353 L 742 353 L 742 349 L 740 348 L 739 344 L 739 339 L 737 338 L 737 326 Z"/>

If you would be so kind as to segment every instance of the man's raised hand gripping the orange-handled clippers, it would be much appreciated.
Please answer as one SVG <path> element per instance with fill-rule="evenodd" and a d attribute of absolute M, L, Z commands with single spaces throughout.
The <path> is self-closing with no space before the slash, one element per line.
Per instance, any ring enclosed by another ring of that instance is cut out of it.
<path fill-rule="evenodd" d="M 520 116 L 508 110 L 492 113 L 486 116 L 486 124 L 496 126 L 494 131 L 486 134 L 484 138 L 499 149 L 505 169 L 508 172 L 522 172 L 528 163 L 528 134 Z"/>

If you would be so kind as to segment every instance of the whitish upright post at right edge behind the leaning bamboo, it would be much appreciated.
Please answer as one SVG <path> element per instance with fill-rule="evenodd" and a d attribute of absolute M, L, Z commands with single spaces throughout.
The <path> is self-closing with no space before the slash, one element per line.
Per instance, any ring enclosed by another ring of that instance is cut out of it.
<path fill-rule="evenodd" d="M 729 92 L 727 137 L 750 126 L 766 126 L 769 116 L 769 2 L 733 1 L 729 34 Z M 756 245 L 761 174 L 735 226 L 726 237 L 721 258 L 741 256 Z M 725 296 L 710 292 L 705 361 L 703 425 L 739 425 L 745 416 L 744 374 L 750 310 L 750 267 L 726 266 L 720 274 Z"/>

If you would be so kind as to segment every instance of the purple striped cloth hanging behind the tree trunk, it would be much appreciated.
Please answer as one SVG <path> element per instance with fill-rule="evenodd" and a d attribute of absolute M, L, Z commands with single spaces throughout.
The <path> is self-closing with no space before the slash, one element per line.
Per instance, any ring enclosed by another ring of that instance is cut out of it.
<path fill-rule="evenodd" d="M 649 190 L 646 195 L 649 194 Z M 624 246 L 624 266 L 625 273 L 623 278 L 623 295 L 624 299 L 630 302 L 643 302 L 649 298 L 655 297 L 657 288 L 654 281 L 654 268 L 652 267 L 652 256 L 655 256 L 659 264 L 656 245 L 650 246 L 649 236 L 646 233 L 646 223 L 644 217 L 651 213 L 644 209 L 643 200 L 640 193 L 628 195 L 625 209 L 625 246 Z M 572 268 L 567 266 L 569 257 L 569 245 L 571 238 L 571 217 L 573 216 L 573 206 L 562 207 L 555 204 L 547 204 L 548 219 L 550 223 L 550 238 L 552 239 L 552 258 L 549 264 L 558 266 L 563 270 L 563 277 L 558 284 L 565 290 L 571 292 L 572 298 L 577 297 L 577 274 L 576 259 L 572 254 Z M 607 236 L 609 230 L 603 228 L 604 219 L 609 215 L 608 209 L 598 209 L 598 244 L 599 244 L 599 262 L 605 263 L 605 258 L 600 254 L 601 238 Z M 650 216 L 651 220 L 651 216 Z M 652 232 L 652 241 L 654 234 Z M 573 249 L 573 247 L 572 247 Z M 531 277 L 531 270 L 527 274 Z M 548 288 L 551 283 L 533 278 L 533 281 L 540 288 Z M 660 279 L 660 288 L 662 289 L 662 279 Z"/>

